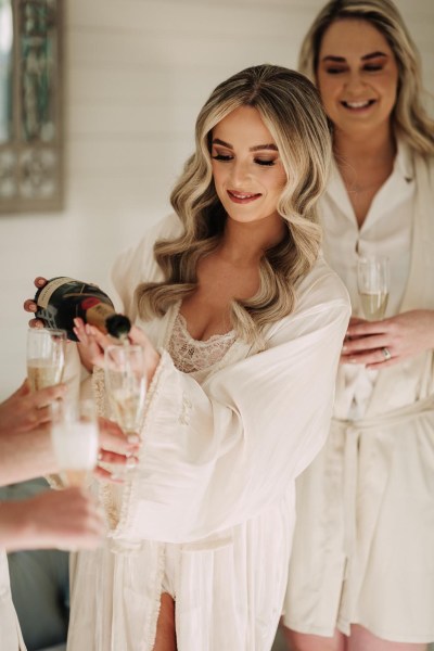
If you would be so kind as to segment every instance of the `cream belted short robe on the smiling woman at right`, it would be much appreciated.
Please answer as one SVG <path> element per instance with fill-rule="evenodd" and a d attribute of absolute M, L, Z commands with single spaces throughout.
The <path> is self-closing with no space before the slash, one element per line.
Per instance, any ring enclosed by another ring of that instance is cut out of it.
<path fill-rule="evenodd" d="M 434 309 L 434 161 L 399 145 L 361 229 L 337 173 L 320 200 L 324 256 L 359 315 L 357 253 L 391 258 L 385 317 Z M 301 633 L 360 624 L 434 640 L 434 357 L 380 371 L 340 366 L 328 442 L 297 480 L 284 609 Z"/>

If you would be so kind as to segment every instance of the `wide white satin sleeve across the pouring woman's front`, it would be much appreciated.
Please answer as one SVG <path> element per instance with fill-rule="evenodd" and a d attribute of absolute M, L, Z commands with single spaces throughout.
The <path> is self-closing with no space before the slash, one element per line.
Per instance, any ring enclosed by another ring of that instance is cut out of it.
<path fill-rule="evenodd" d="M 349 319 L 334 273 L 315 285 L 270 329 L 267 349 L 203 385 L 163 350 L 114 538 L 193 541 L 284 498 L 326 441 Z"/>

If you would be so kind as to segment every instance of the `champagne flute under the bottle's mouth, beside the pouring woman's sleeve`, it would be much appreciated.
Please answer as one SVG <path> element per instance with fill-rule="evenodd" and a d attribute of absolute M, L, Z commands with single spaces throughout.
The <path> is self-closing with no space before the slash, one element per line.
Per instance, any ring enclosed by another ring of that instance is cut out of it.
<path fill-rule="evenodd" d="M 104 370 L 113 416 L 127 436 L 137 435 L 146 396 L 143 348 L 138 345 L 107 346 Z"/>

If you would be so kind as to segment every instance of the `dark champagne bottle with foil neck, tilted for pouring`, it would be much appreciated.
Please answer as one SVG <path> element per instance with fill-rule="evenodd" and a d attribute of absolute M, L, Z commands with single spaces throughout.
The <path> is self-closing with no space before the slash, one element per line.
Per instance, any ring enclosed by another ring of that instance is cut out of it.
<path fill-rule="evenodd" d="M 73 330 L 77 317 L 117 339 L 125 339 L 131 328 L 128 317 L 116 314 L 112 301 L 99 286 L 73 278 L 50 279 L 36 292 L 35 302 L 36 318 L 47 328 L 66 330 L 67 337 L 74 342 L 77 341 Z"/>

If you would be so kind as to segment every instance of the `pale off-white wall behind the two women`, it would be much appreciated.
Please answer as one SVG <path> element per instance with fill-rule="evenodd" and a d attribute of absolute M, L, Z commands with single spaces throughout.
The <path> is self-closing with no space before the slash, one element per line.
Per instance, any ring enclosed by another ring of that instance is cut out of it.
<path fill-rule="evenodd" d="M 66 201 L 0 216 L 0 399 L 25 375 L 37 275 L 107 288 L 114 255 L 169 210 L 196 114 L 230 74 L 295 66 L 323 0 L 64 0 Z M 434 90 L 434 2 L 397 0 Z"/>

